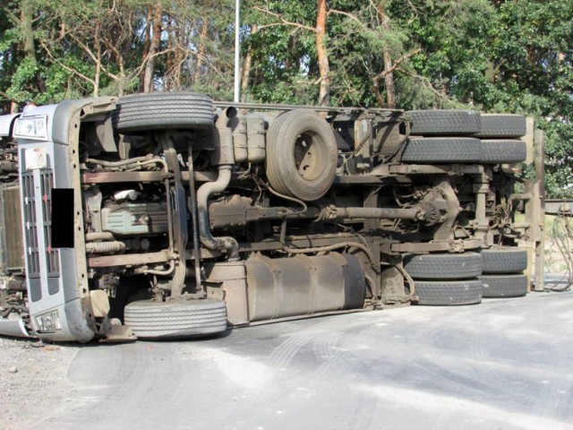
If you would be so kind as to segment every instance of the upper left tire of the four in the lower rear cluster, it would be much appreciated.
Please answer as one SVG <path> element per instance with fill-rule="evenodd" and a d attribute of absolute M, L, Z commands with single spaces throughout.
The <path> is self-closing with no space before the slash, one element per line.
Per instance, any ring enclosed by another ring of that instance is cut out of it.
<path fill-rule="evenodd" d="M 404 270 L 415 280 L 465 280 L 482 274 L 477 253 L 407 255 Z"/>

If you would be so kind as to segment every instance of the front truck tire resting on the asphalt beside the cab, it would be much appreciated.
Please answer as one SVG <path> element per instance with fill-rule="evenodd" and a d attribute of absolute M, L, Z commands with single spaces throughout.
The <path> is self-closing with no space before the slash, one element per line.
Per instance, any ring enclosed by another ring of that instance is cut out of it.
<path fill-rule="evenodd" d="M 223 300 L 182 300 L 158 303 L 138 300 L 125 306 L 124 323 L 139 339 L 184 339 L 227 330 Z"/>

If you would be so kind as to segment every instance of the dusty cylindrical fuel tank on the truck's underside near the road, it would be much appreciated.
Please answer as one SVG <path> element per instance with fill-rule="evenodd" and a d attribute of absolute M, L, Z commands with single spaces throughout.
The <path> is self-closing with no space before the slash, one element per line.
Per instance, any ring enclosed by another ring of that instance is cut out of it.
<path fill-rule="evenodd" d="M 257 255 L 246 262 L 246 275 L 252 322 L 363 307 L 364 272 L 352 254 Z"/>

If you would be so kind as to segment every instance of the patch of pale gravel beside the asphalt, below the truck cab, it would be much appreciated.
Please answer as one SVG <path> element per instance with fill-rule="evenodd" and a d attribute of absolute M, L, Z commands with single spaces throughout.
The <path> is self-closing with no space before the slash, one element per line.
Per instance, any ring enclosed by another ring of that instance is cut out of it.
<path fill-rule="evenodd" d="M 79 348 L 0 338 L 0 429 L 28 428 L 61 404 Z"/>

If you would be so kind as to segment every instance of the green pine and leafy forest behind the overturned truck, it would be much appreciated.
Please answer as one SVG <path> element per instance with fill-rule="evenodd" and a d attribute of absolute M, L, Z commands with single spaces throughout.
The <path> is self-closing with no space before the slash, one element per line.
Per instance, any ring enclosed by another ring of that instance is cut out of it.
<path fill-rule="evenodd" d="M 534 116 L 573 198 L 573 0 L 0 1 L 0 113 L 192 90 L 321 106 Z M 527 172 L 525 172 L 527 174 Z"/>

